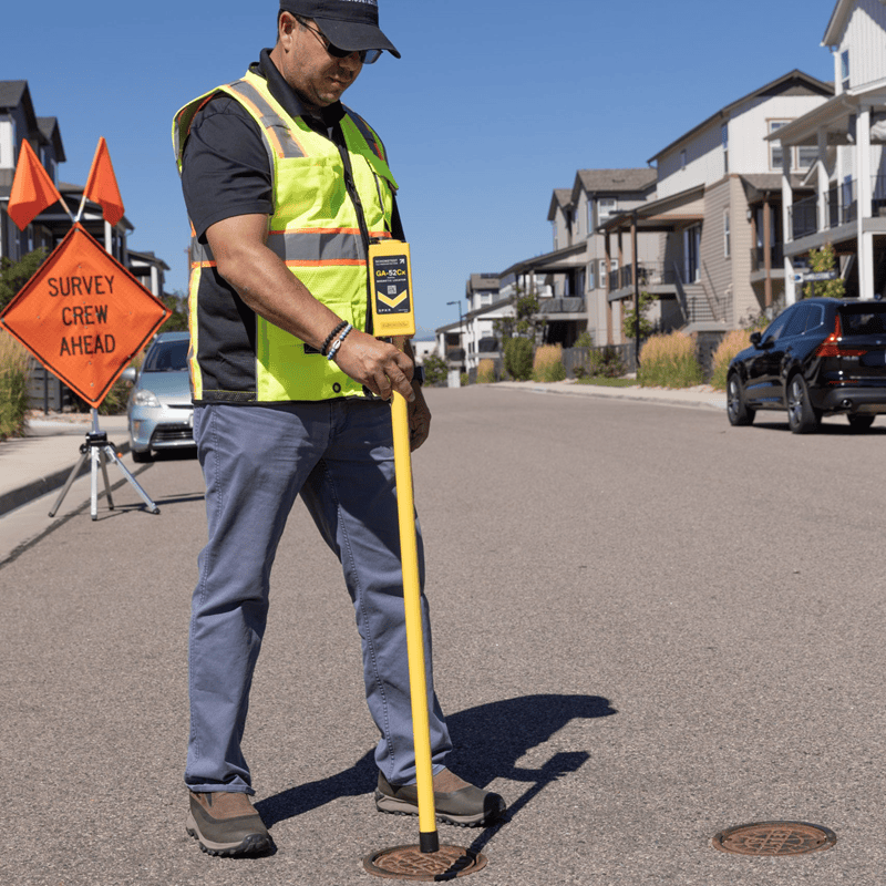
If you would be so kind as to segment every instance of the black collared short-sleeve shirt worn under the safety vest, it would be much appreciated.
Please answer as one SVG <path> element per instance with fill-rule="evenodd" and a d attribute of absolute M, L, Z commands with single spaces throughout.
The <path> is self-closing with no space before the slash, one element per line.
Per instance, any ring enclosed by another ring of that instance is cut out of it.
<path fill-rule="evenodd" d="M 344 115 L 340 102 L 323 109 L 322 117 L 306 112 L 274 62 L 261 51 L 253 73 L 268 81 L 271 95 L 291 116 L 301 116 L 321 135 Z M 224 93 L 216 95 L 194 117 L 185 144 L 182 167 L 185 206 L 197 237 L 206 241 L 206 229 L 238 215 L 274 215 L 274 177 L 264 136 L 249 112 Z M 394 200 L 392 234 L 403 236 Z"/>

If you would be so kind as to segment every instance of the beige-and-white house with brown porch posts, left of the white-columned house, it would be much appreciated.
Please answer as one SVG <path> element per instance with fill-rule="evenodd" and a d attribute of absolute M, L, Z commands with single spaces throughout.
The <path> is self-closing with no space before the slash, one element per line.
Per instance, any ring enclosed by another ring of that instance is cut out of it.
<path fill-rule="evenodd" d="M 606 259 L 618 260 L 606 295 L 611 343 L 618 343 L 627 305 L 641 290 L 659 299 L 662 330 L 711 332 L 715 339 L 784 296 L 779 251 L 782 167 L 802 193 L 814 163 L 808 151 L 784 157 L 766 136 L 824 105 L 833 86 L 791 71 L 743 95 L 671 142 L 655 164 L 655 199 L 599 225 Z M 651 262 L 624 239 L 656 235 Z"/>

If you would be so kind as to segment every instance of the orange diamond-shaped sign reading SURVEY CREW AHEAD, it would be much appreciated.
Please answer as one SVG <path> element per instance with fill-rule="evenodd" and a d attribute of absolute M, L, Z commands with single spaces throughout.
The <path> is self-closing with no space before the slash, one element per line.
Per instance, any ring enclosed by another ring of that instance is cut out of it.
<path fill-rule="evenodd" d="M 0 315 L 0 323 L 97 406 L 171 313 L 74 225 Z"/>

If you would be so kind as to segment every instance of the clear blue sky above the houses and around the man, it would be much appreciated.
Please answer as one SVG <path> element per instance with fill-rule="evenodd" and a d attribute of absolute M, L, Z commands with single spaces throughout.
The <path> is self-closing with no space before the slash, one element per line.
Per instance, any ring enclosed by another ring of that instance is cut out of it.
<path fill-rule="evenodd" d="M 271 45 L 274 0 L 8 7 L 0 80 L 27 80 L 37 114 L 59 119 L 61 179 L 85 182 L 104 135 L 135 225 L 132 248 L 161 256 L 167 289 L 184 290 L 188 229 L 172 116 Z M 457 319 L 446 302 L 464 298 L 472 272 L 552 249 L 550 195 L 571 187 L 577 169 L 646 166 L 794 68 L 833 79 L 820 43 L 834 0 L 380 0 L 380 9 L 403 59 L 365 68 L 344 101 L 391 155 L 420 330 Z"/>

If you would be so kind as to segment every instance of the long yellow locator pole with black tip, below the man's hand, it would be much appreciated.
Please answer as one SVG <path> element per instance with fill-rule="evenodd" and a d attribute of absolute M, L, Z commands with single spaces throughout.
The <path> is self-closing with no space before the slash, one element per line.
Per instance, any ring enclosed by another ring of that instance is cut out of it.
<path fill-rule="evenodd" d="M 431 728 L 427 720 L 424 631 L 422 629 L 419 553 L 415 538 L 415 507 L 412 497 L 412 461 L 409 446 L 406 401 L 394 393 L 391 404 L 396 473 L 396 512 L 400 519 L 400 560 L 403 567 L 403 607 L 406 615 L 409 684 L 412 701 L 412 735 L 419 791 L 419 845 L 422 852 L 439 852 L 434 812 L 434 781 L 431 767 Z"/>

